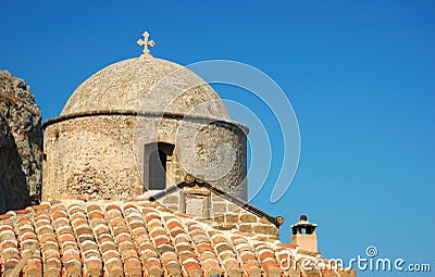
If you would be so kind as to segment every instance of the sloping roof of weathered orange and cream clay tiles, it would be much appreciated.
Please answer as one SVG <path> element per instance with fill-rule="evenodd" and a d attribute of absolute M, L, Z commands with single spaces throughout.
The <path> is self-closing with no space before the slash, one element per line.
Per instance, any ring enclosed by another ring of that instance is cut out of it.
<path fill-rule="evenodd" d="M 296 276 L 281 265 L 301 256 L 278 240 L 216 230 L 150 202 L 55 201 L 9 212 L 0 215 L 0 277 L 18 276 L 15 267 L 35 277 Z"/>

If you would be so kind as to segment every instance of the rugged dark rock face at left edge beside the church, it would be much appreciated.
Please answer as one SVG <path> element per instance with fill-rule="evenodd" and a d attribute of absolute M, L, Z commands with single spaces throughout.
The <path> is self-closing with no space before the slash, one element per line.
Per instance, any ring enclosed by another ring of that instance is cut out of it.
<path fill-rule="evenodd" d="M 37 204 L 41 184 L 41 112 L 26 83 L 0 71 L 0 213 Z"/>

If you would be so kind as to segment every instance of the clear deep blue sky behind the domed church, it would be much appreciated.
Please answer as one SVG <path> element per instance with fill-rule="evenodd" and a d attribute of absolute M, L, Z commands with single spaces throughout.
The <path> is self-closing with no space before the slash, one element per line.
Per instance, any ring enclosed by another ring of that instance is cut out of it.
<path fill-rule="evenodd" d="M 300 126 L 290 189 L 272 204 L 272 178 L 252 201 L 286 218 L 282 240 L 306 213 L 326 257 L 373 244 L 434 272 L 434 15 L 433 1 L 5 1 L 0 68 L 30 85 L 48 119 L 90 74 L 137 56 L 145 29 L 159 58 L 251 64 L 283 88 Z"/>

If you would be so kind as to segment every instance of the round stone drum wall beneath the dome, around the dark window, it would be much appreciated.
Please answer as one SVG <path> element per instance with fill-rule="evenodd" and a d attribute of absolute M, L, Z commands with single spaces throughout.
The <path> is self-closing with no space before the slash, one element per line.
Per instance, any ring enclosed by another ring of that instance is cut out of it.
<path fill-rule="evenodd" d="M 127 199 L 144 192 L 144 149 L 175 146 L 172 186 L 187 172 L 246 199 L 246 134 L 231 123 L 92 115 L 48 125 L 42 199 Z"/>

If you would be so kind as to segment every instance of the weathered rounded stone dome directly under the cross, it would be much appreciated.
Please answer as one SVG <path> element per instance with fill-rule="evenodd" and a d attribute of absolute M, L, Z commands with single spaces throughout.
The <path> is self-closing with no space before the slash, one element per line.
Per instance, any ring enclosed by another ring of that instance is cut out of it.
<path fill-rule="evenodd" d="M 198 75 L 151 55 L 111 64 L 90 76 L 75 89 L 61 116 L 99 111 L 231 121 L 222 99 Z"/>

